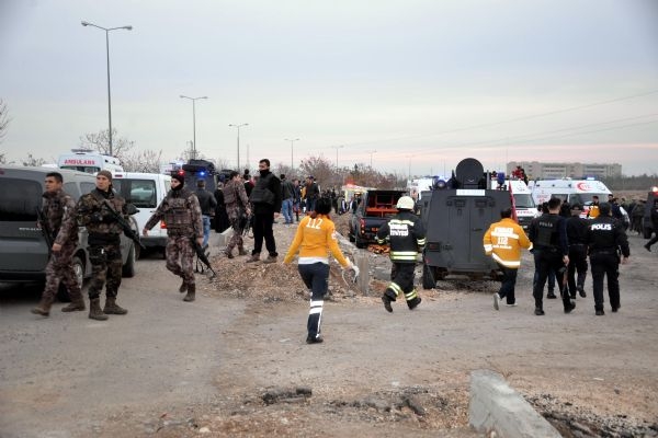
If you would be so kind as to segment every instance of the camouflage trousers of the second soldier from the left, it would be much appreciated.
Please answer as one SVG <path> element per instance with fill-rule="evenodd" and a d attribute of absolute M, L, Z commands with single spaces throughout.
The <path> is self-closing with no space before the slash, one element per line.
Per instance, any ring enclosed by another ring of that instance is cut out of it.
<path fill-rule="evenodd" d="M 106 297 L 116 297 L 121 286 L 121 246 L 93 245 L 89 246 L 89 261 L 91 262 L 91 281 L 89 284 L 89 299 L 99 298 L 103 285 Z"/>

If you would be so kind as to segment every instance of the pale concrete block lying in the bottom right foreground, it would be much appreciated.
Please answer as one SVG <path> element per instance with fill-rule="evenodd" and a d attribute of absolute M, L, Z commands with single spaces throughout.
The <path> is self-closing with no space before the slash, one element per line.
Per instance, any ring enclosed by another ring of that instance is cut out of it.
<path fill-rule="evenodd" d="M 542 417 L 498 372 L 470 373 L 468 423 L 478 433 L 495 430 L 501 438 L 559 438 Z"/>

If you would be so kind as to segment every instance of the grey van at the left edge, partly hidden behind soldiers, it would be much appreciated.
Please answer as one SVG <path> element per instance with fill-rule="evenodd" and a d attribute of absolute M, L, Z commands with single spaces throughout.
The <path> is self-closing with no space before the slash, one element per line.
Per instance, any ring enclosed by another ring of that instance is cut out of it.
<path fill-rule="evenodd" d="M 43 283 L 48 263 L 48 247 L 37 227 L 36 210 L 42 207 L 44 181 L 48 172 L 64 176 L 64 191 L 78 200 L 95 188 L 95 177 L 89 173 L 48 168 L 0 165 L 0 281 Z M 137 231 L 137 223 L 131 221 Z M 87 251 L 87 229 L 79 228 L 80 242 L 72 264 L 78 281 L 91 276 Z M 135 244 L 122 234 L 121 253 L 124 277 L 135 275 Z M 68 300 L 68 291 L 60 286 L 58 298 Z"/>

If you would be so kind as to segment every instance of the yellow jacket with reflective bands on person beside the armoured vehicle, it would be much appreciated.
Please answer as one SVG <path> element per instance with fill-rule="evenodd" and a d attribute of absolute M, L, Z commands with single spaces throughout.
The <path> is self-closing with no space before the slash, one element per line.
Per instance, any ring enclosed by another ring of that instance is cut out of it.
<path fill-rule="evenodd" d="M 483 241 L 487 255 L 491 255 L 496 262 L 513 269 L 521 266 L 521 249 L 532 247 L 525 231 L 510 218 L 491 223 Z"/>

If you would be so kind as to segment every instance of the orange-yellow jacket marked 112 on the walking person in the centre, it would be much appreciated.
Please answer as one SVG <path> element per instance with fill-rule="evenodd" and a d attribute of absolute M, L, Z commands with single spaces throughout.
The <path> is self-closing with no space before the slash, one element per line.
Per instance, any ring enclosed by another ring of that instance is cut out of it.
<path fill-rule="evenodd" d="M 315 219 L 310 216 L 302 219 L 283 263 L 291 263 L 297 250 L 299 250 L 299 263 L 304 263 L 304 258 L 306 262 L 329 263 L 329 252 L 331 252 L 342 267 L 350 265 L 338 246 L 336 226 L 325 215 L 318 215 Z"/>

